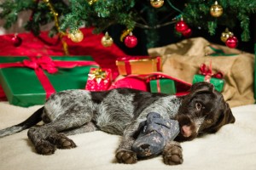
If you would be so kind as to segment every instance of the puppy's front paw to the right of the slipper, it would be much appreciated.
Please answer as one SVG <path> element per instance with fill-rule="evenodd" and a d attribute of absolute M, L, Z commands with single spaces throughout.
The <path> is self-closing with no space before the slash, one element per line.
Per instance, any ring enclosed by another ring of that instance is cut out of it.
<path fill-rule="evenodd" d="M 178 165 L 183 163 L 183 150 L 177 142 L 170 142 L 166 144 L 163 151 L 164 162 L 167 165 Z"/>

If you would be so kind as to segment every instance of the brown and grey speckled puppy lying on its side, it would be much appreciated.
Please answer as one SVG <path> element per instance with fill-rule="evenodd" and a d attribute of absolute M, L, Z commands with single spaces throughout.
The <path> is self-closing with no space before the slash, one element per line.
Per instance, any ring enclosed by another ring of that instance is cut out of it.
<path fill-rule="evenodd" d="M 1 130 L 0 138 L 30 128 L 27 135 L 38 154 L 51 155 L 56 148 L 76 147 L 67 135 L 102 130 L 123 136 L 116 159 L 131 164 L 137 162 L 137 154 L 131 146 L 137 138 L 140 122 L 147 119 L 149 112 L 179 122 L 180 133 L 175 141 L 167 142 L 162 151 L 168 165 L 183 162 L 178 142 L 195 139 L 199 134 L 215 133 L 225 124 L 235 122 L 222 94 L 208 82 L 195 83 L 190 93 L 182 97 L 131 88 L 103 92 L 66 90 L 52 94 L 25 122 Z M 32 127 L 42 120 L 43 126 Z"/>

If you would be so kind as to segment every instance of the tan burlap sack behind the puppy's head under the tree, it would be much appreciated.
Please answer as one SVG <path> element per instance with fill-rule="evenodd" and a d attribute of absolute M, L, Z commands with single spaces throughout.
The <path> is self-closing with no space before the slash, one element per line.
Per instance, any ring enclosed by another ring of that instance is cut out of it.
<path fill-rule="evenodd" d="M 222 53 L 223 52 L 223 53 Z M 149 48 L 150 56 L 162 57 L 162 71 L 171 77 L 192 83 L 201 64 L 224 73 L 224 99 L 231 107 L 249 105 L 253 99 L 254 55 L 207 42 L 202 37 L 189 38 L 161 48 Z"/>

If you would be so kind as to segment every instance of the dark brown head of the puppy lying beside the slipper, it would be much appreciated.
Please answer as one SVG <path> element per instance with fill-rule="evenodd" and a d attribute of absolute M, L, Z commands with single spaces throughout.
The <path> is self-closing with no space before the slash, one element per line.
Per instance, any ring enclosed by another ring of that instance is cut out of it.
<path fill-rule="evenodd" d="M 197 82 L 183 97 L 176 116 L 180 125 L 178 141 L 192 140 L 198 135 L 216 133 L 225 124 L 236 121 L 223 95 L 209 82 Z"/>

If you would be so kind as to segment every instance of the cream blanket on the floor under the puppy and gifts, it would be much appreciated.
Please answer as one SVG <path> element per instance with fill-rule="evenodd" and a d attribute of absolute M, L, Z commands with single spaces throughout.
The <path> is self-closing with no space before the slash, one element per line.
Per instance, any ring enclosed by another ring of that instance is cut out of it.
<path fill-rule="evenodd" d="M 22 108 L 0 102 L 0 129 L 22 122 L 40 106 Z M 38 155 L 27 139 L 27 130 L 0 139 L 0 170 L 254 170 L 256 169 L 256 105 L 232 108 L 236 123 L 216 134 L 182 143 L 183 164 L 166 166 L 158 156 L 134 165 L 115 162 L 120 137 L 103 132 L 70 136 L 78 145 L 56 150 L 52 156 Z"/>

